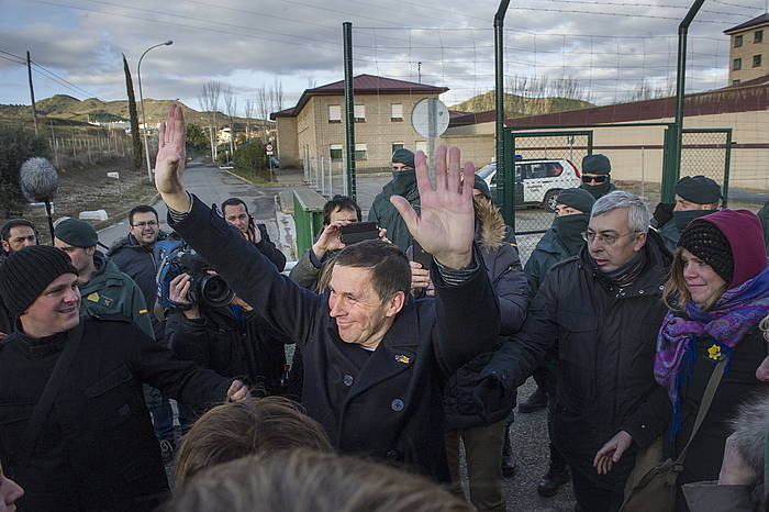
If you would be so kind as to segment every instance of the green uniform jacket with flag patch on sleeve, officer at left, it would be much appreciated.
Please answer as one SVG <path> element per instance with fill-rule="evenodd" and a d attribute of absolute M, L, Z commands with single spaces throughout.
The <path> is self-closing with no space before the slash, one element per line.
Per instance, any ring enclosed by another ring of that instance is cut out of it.
<path fill-rule="evenodd" d="M 121 314 L 155 340 L 147 304 L 138 285 L 120 271 L 112 260 L 97 251 L 93 254 L 97 271 L 91 280 L 80 286 L 80 314 L 103 316 Z"/>

